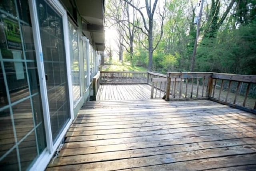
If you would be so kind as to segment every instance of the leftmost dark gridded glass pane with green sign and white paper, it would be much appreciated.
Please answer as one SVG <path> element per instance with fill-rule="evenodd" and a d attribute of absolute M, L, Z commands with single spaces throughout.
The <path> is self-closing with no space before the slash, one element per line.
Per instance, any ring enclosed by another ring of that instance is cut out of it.
<path fill-rule="evenodd" d="M 26 0 L 0 3 L 0 168 L 26 170 L 46 148 Z"/>

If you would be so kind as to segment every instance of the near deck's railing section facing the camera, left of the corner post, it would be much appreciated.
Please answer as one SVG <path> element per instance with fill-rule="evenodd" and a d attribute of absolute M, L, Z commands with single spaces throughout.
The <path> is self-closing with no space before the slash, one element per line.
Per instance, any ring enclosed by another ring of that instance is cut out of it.
<path fill-rule="evenodd" d="M 168 73 L 166 101 L 208 99 L 212 73 Z"/>

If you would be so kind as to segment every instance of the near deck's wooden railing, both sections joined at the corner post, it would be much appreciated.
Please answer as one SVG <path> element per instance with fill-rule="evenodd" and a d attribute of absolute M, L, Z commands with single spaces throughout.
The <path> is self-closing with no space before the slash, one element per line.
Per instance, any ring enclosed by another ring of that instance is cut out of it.
<path fill-rule="evenodd" d="M 256 76 L 168 73 L 166 101 L 210 99 L 256 113 Z"/>

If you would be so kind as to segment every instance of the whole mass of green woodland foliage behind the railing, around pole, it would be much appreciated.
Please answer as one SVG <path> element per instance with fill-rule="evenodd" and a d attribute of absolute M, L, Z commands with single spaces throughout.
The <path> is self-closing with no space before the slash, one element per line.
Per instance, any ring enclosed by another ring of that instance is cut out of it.
<path fill-rule="evenodd" d="M 197 0 L 167 0 L 163 37 L 153 54 L 153 71 L 188 72 L 196 38 Z M 228 8 L 230 6 L 230 8 Z M 154 20 L 154 40 L 160 24 Z M 139 26 L 143 27 L 141 18 Z M 195 71 L 256 75 L 256 1 L 207 0 L 198 39 Z M 154 46 L 156 45 L 156 41 Z M 147 37 L 134 37 L 132 68 L 148 67 Z M 124 54 L 130 63 L 130 54 Z M 134 67 L 133 67 L 134 66 Z"/>

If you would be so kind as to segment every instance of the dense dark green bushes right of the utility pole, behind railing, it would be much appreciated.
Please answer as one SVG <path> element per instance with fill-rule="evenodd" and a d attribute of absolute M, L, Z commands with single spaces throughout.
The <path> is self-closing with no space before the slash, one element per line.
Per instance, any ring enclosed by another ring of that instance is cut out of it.
<path fill-rule="evenodd" d="M 198 48 L 196 70 L 256 75 L 256 22 L 205 38 Z"/>

